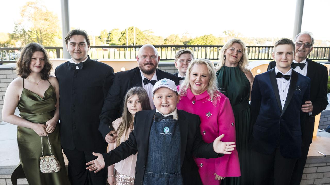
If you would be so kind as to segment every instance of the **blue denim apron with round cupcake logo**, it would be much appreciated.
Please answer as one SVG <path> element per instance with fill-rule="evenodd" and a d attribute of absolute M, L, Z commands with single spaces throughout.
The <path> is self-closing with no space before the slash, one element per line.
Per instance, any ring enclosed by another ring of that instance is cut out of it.
<path fill-rule="evenodd" d="M 144 185 L 182 185 L 181 138 L 178 120 L 153 120 Z"/>

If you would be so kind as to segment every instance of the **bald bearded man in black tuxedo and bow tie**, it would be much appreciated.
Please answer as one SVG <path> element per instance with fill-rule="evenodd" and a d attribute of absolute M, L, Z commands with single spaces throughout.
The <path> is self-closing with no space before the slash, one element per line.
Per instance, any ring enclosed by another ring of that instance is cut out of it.
<path fill-rule="evenodd" d="M 120 71 L 115 74 L 114 84 L 111 86 L 107 98 L 104 101 L 102 112 L 100 115 L 99 131 L 102 133 L 106 142 L 112 143 L 115 138 L 112 136 L 114 131 L 110 133 L 111 122 L 121 116 L 123 110 L 124 96 L 132 87 L 143 87 L 149 95 L 150 107 L 155 109 L 152 100 L 152 88 L 157 80 L 168 78 L 173 80 L 175 84 L 179 84 L 178 77 L 157 69 L 160 57 L 157 49 L 153 45 L 143 45 L 136 60 L 139 64 L 131 70 Z"/>

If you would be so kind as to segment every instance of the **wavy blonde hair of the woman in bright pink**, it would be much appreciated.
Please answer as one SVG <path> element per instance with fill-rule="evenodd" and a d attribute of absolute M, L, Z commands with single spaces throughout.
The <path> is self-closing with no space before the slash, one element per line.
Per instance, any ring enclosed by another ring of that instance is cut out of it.
<path fill-rule="evenodd" d="M 216 80 L 214 66 L 213 66 L 212 62 L 208 59 L 195 59 L 190 62 L 188 69 L 187 69 L 187 74 L 185 76 L 183 83 L 180 85 L 180 90 L 178 93 L 181 96 L 187 95 L 187 90 L 188 90 L 188 88 L 190 88 L 190 84 L 189 84 L 190 73 L 191 73 L 191 69 L 194 65 L 206 65 L 207 66 L 208 73 L 210 75 L 210 81 L 209 81 L 209 84 L 206 89 L 206 91 L 210 95 L 210 98 L 207 100 L 212 101 L 213 105 L 216 105 L 218 98 L 220 98 L 219 91 L 218 91 L 218 82 Z"/>

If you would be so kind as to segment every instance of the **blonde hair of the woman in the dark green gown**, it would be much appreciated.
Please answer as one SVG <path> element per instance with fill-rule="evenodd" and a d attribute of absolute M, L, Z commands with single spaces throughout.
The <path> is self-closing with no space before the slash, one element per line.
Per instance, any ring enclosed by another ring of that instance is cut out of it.
<path fill-rule="evenodd" d="M 226 49 L 230 48 L 233 43 L 238 43 L 241 44 L 242 48 L 243 48 L 243 55 L 242 58 L 240 60 L 240 62 L 238 63 L 238 66 L 240 67 L 241 71 L 246 73 L 249 71 L 248 68 L 248 52 L 247 52 L 247 46 L 245 45 L 245 43 L 240 40 L 240 39 L 231 39 L 228 40 L 228 42 L 221 48 L 220 53 L 219 53 L 219 63 L 215 66 L 215 71 L 218 71 L 221 67 L 223 67 L 225 65 L 225 59 L 223 59 L 224 53 L 226 51 Z"/>

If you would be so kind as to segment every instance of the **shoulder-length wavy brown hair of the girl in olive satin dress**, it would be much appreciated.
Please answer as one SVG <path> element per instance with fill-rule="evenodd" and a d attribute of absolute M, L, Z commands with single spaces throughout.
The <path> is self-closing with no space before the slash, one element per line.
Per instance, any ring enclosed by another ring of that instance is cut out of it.
<path fill-rule="evenodd" d="M 49 56 L 48 53 L 46 51 L 46 49 L 44 48 L 44 46 L 32 42 L 29 44 L 26 44 L 26 46 L 21 50 L 21 55 L 18 58 L 18 61 L 16 63 L 17 67 L 16 67 L 16 72 L 17 72 L 17 76 L 20 76 L 22 78 L 27 78 L 30 73 L 31 73 L 31 69 L 30 69 L 30 64 L 31 64 L 31 58 L 33 56 L 33 53 L 36 51 L 41 51 L 44 53 L 44 59 L 45 59 L 45 66 L 44 68 L 41 70 L 41 79 L 42 80 L 48 80 L 49 76 L 50 76 L 50 70 L 52 69 L 52 64 L 49 60 Z"/>

